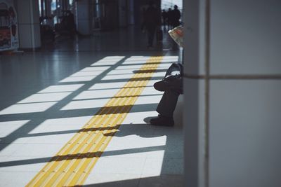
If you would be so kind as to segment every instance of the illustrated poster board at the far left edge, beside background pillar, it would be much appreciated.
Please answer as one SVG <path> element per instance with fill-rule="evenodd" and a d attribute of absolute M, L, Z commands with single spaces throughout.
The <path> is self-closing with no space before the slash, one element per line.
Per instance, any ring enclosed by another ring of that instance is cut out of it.
<path fill-rule="evenodd" d="M 12 0 L 0 0 L 0 51 L 18 49 L 18 17 Z"/>

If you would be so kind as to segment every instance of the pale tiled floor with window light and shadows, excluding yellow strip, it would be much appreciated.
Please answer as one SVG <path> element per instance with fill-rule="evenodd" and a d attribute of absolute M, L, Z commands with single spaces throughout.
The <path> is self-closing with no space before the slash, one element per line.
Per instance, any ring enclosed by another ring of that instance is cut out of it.
<path fill-rule="evenodd" d="M 164 60 L 99 158 L 85 186 L 183 186 L 180 97 L 174 127 L 148 124 L 162 92 L 152 87 L 181 61 L 169 36 L 155 49 L 129 28 L 0 56 L 0 186 L 25 186 L 150 56 Z"/>

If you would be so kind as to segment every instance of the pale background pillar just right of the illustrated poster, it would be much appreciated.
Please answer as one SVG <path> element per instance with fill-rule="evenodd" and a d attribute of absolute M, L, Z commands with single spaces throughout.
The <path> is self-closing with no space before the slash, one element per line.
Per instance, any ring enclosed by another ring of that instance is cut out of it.
<path fill-rule="evenodd" d="M 38 0 L 18 0 L 18 31 L 20 48 L 41 46 Z"/>

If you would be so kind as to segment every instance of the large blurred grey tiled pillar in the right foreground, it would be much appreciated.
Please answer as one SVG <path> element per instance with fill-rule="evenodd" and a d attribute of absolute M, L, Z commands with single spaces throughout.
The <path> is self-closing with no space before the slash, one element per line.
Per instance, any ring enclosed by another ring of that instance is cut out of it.
<path fill-rule="evenodd" d="M 188 0 L 186 186 L 281 184 L 281 1 Z"/>

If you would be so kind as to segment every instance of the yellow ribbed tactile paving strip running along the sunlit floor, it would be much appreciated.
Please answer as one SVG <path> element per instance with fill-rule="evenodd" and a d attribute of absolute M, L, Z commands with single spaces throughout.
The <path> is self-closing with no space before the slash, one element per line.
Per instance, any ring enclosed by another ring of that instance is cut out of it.
<path fill-rule="evenodd" d="M 150 57 L 27 186 L 81 186 L 148 84 L 162 58 Z"/>

